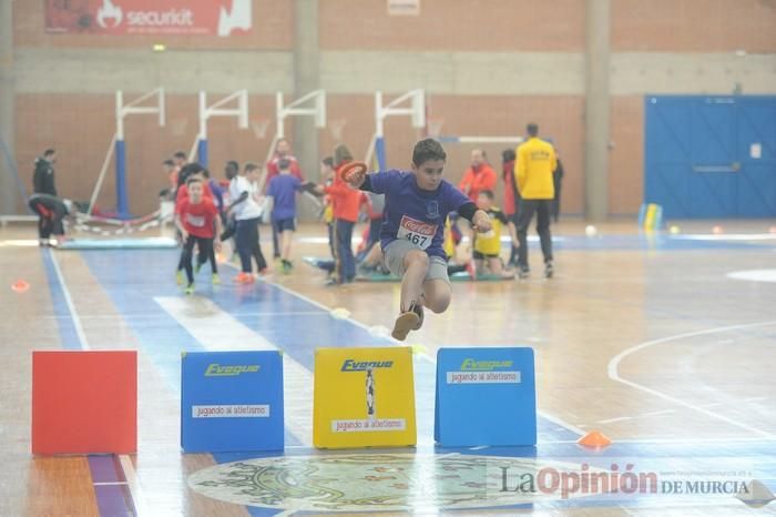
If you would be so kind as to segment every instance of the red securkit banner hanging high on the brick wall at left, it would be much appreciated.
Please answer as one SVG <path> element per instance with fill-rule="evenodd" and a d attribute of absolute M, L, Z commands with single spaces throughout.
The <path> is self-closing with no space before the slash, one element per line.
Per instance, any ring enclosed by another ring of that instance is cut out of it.
<path fill-rule="evenodd" d="M 45 31 L 219 36 L 253 29 L 252 0 L 45 0 Z"/>

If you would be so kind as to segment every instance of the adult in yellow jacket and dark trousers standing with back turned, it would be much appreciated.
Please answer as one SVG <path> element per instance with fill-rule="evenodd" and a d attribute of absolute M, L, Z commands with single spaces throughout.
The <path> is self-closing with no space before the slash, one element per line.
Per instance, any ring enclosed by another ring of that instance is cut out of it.
<path fill-rule="evenodd" d="M 555 150 L 552 144 L 539 139 L 539 125 L 528 124 L 528 141 L 518 145 L 515 151 L 518 164 L 514 180 L 520 192 L 518 214 L 518 272 L 521 278 L 529 275 L 528 266 L 528 226 L 537 214 L 537 233 L 544 255 L 544 276 L 552 276 L 552 236 L 550 235 L 550 214 L 555 197 L 552 174 L 558 166 Z"/>

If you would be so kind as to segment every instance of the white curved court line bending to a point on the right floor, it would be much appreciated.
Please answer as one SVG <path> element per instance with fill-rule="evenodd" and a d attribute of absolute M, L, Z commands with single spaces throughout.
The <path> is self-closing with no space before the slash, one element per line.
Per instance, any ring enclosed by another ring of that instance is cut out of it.
<path fill-rule="evenodd" d="M 738 427 L 741 429 L 748 430 L 748 432 L 754 433 L 760 437 L 773 439 L 773 438 L 776 438 L 776 435 L 774 435 L 772 433 L 758 429 L 756 427 L 752 427 L 747 424 L 743 424 L 738 420 L 735 420 L 733 418 L 728 418 L 728 417 L 721 415 L 718 413 L 705 409 L 702 406 L 698 406 L 696 404 L 691 404 L 688 402 L 682 401 L 681 398 L 676 398 L 676 397 L 673 397 L 671 395 L 666 395 L 664 393 L 661 393 L 656 389 L 652 389 L 652 388 L 646 387 L 644 385 L 634 383 L 633 381 L 629 381 L 626 378 L 623 378 L 620 375 L 620 373 L 617 372 L 617 368 L 619 368 L 622 359 L 624 359 L 625 357 L 627 357 L 631 354 L 635 354 L 636 352 L 641 352 L 644 348 L 647 348 L 650 346 L 660 345 L 663 343 L 668 343 L 668 342 L 677 341 L 677 339 L 684 339 L 686 337 L 695 337 L 695 336 L 717 334 L 717 333 L 728 332 L 728 331 L 738 331 L 738 330 L 743 330 L 743 328 L 757 328 L 757 327 L 773 326 L 773 325 L 776 325 L 776 322 L 759 322 L 759 323 L 747 323 L 747 324 L 743 324 L 743 325 L 728 325 L 728 326 L 716 327 L 716 328 L 706 328 L 704 331 L 676 334 L 673 336 L 661 337 L 660 339 L 647 341 L 647 342 L 641 343 L 639 345 L 632 346 L 630 348 L 626 348 L 626 349 L 622 351 L 621 353 L 619 353 L 617 355 L 615 355 L 614 357 L 612 357 L 612 359 L 609 362 L 609 367 L 607 367 L 609 378 L 611 378 L 612 381 L 616 381 L 619 383 L 625 384 L 626 386 L 631 386 L 631 387 L 639 389 L 641 392 L 649 393 L 650 395 L 654 395 L 656 397 L 663 398 L 664 401 L 668 401 L 668 402 L 672 402 L 672 403 L 677 404 L 680 406 L 684 406 L 688 409 L 693 409 L 695 412 L 702 413 L 708 417 L 725 422 L 725 423 L 731 424 L 731 425 Z"/>

